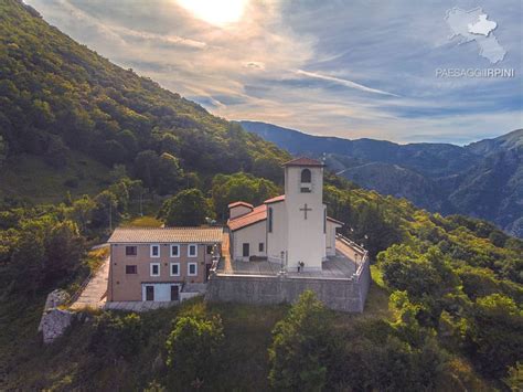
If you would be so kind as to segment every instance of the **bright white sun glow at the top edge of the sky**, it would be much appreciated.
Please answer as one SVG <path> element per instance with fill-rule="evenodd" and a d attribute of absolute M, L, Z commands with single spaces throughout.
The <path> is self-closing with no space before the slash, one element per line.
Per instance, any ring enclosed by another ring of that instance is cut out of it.
<path fill-rule="evenodd" d="M 224 27 L 239 21 L 248 0 L 177 0 L 177 2 L 195 18 Z"/>

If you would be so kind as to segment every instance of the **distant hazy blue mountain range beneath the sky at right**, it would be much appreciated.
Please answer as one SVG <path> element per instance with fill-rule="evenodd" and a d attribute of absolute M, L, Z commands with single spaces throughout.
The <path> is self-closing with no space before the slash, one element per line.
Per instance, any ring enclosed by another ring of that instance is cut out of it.
<path fill-rule="evenodd" d="M 460 147 L 312 136 L 239 121 L 292 155 L 324 156 L 337 173 L 383 194 L 444 214 L 490 220 L 523 236 L 523 129 Z"/>

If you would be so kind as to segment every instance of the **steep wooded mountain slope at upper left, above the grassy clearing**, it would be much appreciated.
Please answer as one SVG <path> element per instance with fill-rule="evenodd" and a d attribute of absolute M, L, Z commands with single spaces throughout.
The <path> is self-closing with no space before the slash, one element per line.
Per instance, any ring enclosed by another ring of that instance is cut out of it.
<path fill-rule="evenodd" d="M 172 193 L 195 171 L 202 179 L 239 170 L 277 179 L 286 159 L 238 125 L 79 45 L 15 0 L 0 2 L 0 107 L 4 171 L 26 155 L 61 170 L 81 151 Z M 90 173 L 81 167 L 64 181 L 74 190 Z"/>

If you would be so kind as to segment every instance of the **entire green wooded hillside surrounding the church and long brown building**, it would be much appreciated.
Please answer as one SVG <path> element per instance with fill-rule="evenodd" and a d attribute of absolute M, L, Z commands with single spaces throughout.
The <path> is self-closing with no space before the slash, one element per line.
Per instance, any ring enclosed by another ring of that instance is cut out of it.
<path fill-rule="evenodd" d="M 223 223 L 231 201 L 281 192 L 289 155 L 113 65 L 18 1 L 0 0 L 0 390 L 517 385 L 523 242 L 333 173 L 329 214 L 373 259 L 362 315 L 330 312 L 310 293 L 292 307 L 196 299 L 89 312 L 44 347 L 46 294 L 77 290 L 104 257 L 89 245 L 109 227 Z"/>

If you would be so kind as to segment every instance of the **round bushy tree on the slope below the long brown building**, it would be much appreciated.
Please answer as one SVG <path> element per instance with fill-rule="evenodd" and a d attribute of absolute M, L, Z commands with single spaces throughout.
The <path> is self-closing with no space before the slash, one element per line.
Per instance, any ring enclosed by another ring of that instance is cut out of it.
<path fill-rule="evenodd" d="M 216 370 L 223 340 L 220 316 L 181 316 L 167 339 L 167 364 L 184 382 L 203 382 Z"/>

